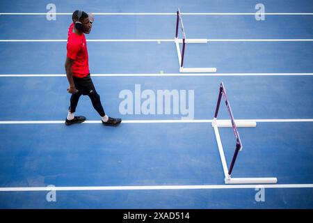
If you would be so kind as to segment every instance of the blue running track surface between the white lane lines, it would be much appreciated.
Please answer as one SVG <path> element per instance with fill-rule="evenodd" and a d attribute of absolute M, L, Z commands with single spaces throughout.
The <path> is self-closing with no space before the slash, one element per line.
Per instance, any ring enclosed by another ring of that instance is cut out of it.
<path fill-rule="evenodd" d="M 51 1 L 0 2 L 0 13 L 46 13 Z M 93 13 L 255 13 L 255 1 L 54 1 L 57 13 L 83 8 Z M 262 1 L 266 13 L 313 13 L 312 1 Z M 187 38 L 312 39 L 313 15 L 184 15 Z M 91 74 L 176 74 L 175 43 L 114 40 L 172 40 L 175 15 L 97 15 L 88 42 Z M 0 15 L 0 40 L 65 40 L 70 15 Z M 239 128 L 243 151 L 232 177 L 272 177 L 278 184 L 312 185 L 313 42 L 211 42 L 186 45 L 186 68 L 216 67 L 214 76 L 93 77 L 110 116 L 126 121 L 181 120 L 186 115 L 121 114 L 120 93 L 136 86 L 157 91 L 194 92 L 193 116 L 214 116 L 218 87 L 224 82 L 237 119 L 269 119 L 257 128 Z M 3 121 L 63 121 L 70 94 L 64 74 L 66 42 L 0 41 L 0 208 L 313 208 L 313 186 L 202 190 L 64 190 L 56 202 L 47 191 L 4 192 L 5 187 L 97 187 L 224 185 L 211 123 L 100 123 L 65 126 L 5 124 Z M 238 76 L 227 75 L 237 73 Z M 297 73 L 295 75 L 244 75 Z M 303 73 L 301 75 L 300 73 Z M 2 77 L 1 77 L 2 75 Z M 4 77 L 3 75 L 24 75 Z M 136 96 L 134 95 L 134 100 Z M 181 98 L 180 98 L 181 99 Z M 157 98 L 156 98 L 157 100 Z M 143 103 L 145 100 L 141 98 Z M 182 103 L 181 101 L 179 103 Z M 157 107 L 159 104 L 154 104 Z M 191 105 L 188 105 L 191 109 Z M 133 112 L 135 113 L 135 112 Z M 99 121 L 90 99 L 77 114 Z M 227 119 L 224 102 L 218 118 Z M 273 122 L 272 122 L 273 121 Z M 219 128 L 228 164 L 234 153 L 231 128 Z"/>

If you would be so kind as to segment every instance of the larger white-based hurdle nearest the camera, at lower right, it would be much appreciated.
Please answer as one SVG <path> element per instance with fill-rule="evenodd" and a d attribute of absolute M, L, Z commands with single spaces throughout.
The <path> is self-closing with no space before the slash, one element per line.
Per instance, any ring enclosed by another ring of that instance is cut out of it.
<path fill-rule="evenodd" d="M 225 98 L 227 110 L 230 113 L 230 117 L 232 120 L 229 121 L 218 121 L 217 120 L 217 114 L 218 114 L 218 109 L 220 106 L 220 99 L 222 98 L 222 95 Z M 277 178 L 232 178 L 231 177 L 231 172 L 232 172 L 232 167 L 234 163 L 231 165 L 231 169 L 229 170 L 227 167 L 227 162 L 225 159 L 225 154 L 224 154 L 224 149 L 222 145 L 222 141 L 220 140 L 220 133 L 218 132 L 218 127 L 221 128 L 233 128 L 235 135 L 237 134 L 239 145 L 240 145 L 240 150 L 242 149 L 241 141 L 239 138 L 239 133 L 236 131 L 236 127 L 257 127 L 257 122 L 255 121 L 235 121 L 234 116 L 232 115 L 232 109 L 230 108 L 230 102 L 227 100 L 226 92 L 224 89 L 223 82 L 220 83 L 220 93 L 218 95 L 218 105 L 216 106 L 216 113 L 214 115 L 214 120 L 212 121 L 212 127 L 214 128 L 214 134 L 216 137 L 216 142 L 218 144 L 218 151 L 220 153 L 220 160 L 223 165 L 223 171 L 225 175 L 225 184 L 270 184 L 270 183 L 277 183 Z M 239 147 L 238 147 L 239 148 Z M 237 145 L 236 145 L 236 150 L 237 150 Z M 238 153 L 238 151 L 236 151 Z M 235 154 L 236 154 L 235 152 Z M 236 157 L 234 155 L 233 160 L 236 160 Z"/>

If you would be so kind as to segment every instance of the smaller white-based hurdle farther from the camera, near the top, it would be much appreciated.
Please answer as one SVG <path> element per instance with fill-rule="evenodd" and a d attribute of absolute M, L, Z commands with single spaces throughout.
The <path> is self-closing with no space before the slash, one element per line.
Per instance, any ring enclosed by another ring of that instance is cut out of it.
<path fill-rule="evenodd" d="M 179 20 L 182 24 L 182 33 L 183 38 L 178 38 L 178 26 Z M 175 36 L 175 45 L 177 49 L 178 63 L 179 63 L 179 72 L 216 72 L 216 68 L 184 68 L 184 49 L 186 43 L 207 43 L 207 39 L 186 39 L 184 33 L 184 24 L 182 22 L 182 17 L 180 15 L 180 10 L 177 10 L 177 21 L 176 21 L 176 36 Z M 180 53 L 179 43 L 183 44 L 182 54 Z"/>

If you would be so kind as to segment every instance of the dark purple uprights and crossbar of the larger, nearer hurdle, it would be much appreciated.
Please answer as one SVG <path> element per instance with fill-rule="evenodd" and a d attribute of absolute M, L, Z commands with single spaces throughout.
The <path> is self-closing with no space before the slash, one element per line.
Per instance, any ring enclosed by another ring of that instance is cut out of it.
<path fill-rule="evenodd" d="M 224 86 L 223 82 L 220 83 L 220 93 L 218 94 L 218 102 L 216 105 L 214 118 L 216 119 L 218 116 L 218 110 L 220 108 L 220 100 L 222 99 L 222 95 L 223 95 L 224 100 L 225 100 L 228 114 L 230 114 L 230 119 L 232 121 L 232 130 L 234 130 L 234 135 L 236 137 L 236 148 L 234 151 L 234 155 L 232 157 L 232 163 L 230 164 L 230 169 L 228 170 L 228 175 L 231 175 L 232 169 L 234 168 L 234 163 L 236 162 L 236 157 L 238 155 L 238 152 L 242 149 L 242 144 L 241 144 L 241 140 L 239 137 L 239 132 L 236 128 L 236 123 L 234 122 L 234 116 L 232 114 L 232 108 L 230 107 L 230 102 L 227 100 L 227 95 L 226 95 L 225 86 Z"/>

